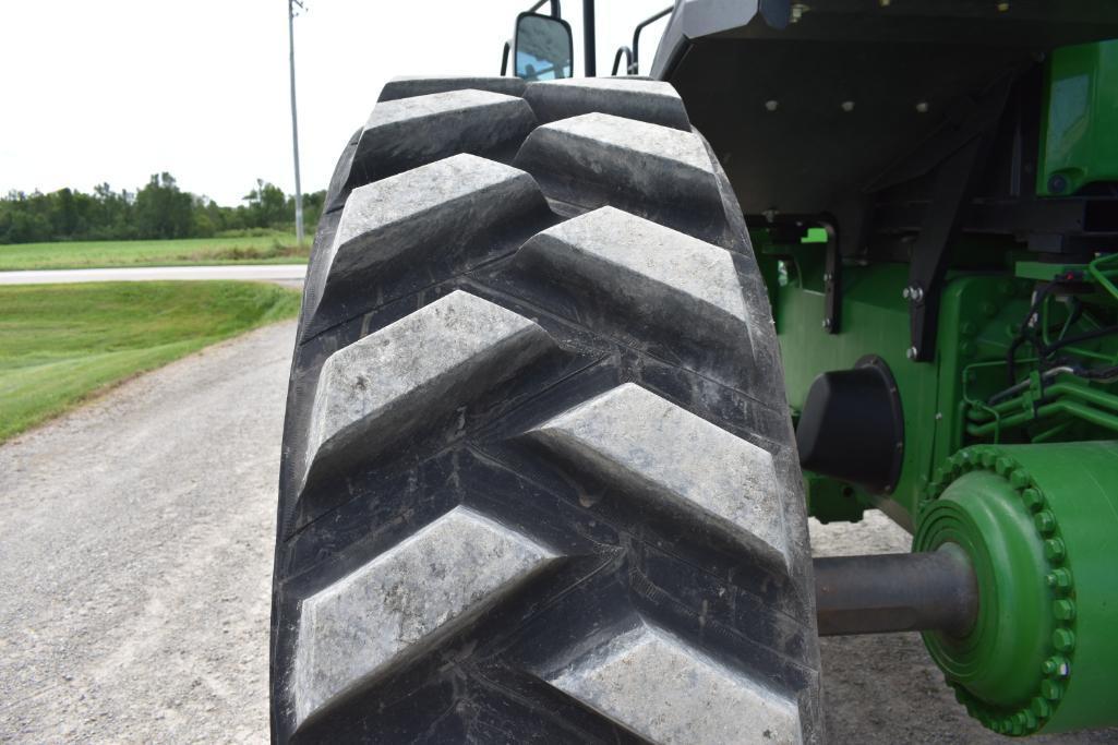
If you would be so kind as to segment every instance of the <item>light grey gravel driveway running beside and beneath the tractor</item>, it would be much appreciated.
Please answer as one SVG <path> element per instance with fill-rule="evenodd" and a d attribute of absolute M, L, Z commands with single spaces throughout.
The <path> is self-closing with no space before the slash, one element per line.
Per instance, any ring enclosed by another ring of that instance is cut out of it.
<path fill-rule="evenodd" d="M 294 323 L 0 446 L 0 742 L 267 739 L 275 485 Z M 880 515 L 818 554 L 906 550 Z M 1005 743 L 916 634 L 823 642 L 835 743 Z M 1031 742 L 1118 742 L 1118 730 Z"/>

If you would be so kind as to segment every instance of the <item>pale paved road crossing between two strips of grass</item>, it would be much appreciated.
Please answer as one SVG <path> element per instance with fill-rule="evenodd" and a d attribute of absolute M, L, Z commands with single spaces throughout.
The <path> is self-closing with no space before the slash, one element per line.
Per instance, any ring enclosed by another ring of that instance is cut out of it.
<path fill-rule="evenodd" d="M 69 282 L 152 282 L 154 280 L 256 280 L 302 282 L 305 264 L 228 264 L 219 266 L 127 266 L 95 270 L 0 272 L 0 284 Z"/>

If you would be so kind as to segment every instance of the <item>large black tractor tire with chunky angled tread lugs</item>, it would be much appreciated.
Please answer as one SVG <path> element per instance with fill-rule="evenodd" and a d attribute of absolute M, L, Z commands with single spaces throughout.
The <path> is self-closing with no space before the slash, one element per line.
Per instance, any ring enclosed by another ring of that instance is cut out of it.
<path fill-rule="evenodd" d="M 814 743 L 800 472 L 737 201 L 650 81 L 396 81 L 284 430 L 278 742 Z"/>

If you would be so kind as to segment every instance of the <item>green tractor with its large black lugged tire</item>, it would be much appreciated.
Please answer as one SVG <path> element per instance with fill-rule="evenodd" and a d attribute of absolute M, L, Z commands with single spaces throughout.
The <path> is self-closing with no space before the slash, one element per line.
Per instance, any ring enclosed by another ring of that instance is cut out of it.
<path fill-rule="evenodd" d="M 1118 3 L 676 0 L 599 77 L 582 0 L 580 78 L 561 10 L 334 170 L 273 739 L 818 743 L 819 635 L 901 631 L 1118 724 Z"/>

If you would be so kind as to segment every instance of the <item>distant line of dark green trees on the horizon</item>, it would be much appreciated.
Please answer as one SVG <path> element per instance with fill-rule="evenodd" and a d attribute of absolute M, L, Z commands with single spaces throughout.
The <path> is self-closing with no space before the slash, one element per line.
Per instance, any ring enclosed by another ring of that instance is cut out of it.
<path fill-rule="evenodd" d="M 313 234 L 325 191 L 303 195 L 303 220 Z M 206 238 L 254 229 L 294 229 L 295 198 L 259 179 L 237 207 L 183 191 L 170 173 L 155 173 L 146 186 L 93 194 L 59 189 L 50 194 L 10 191 L 0 198 L 0 244 L 53 241 L 132 241 Z"/>

